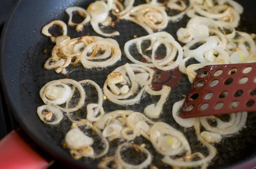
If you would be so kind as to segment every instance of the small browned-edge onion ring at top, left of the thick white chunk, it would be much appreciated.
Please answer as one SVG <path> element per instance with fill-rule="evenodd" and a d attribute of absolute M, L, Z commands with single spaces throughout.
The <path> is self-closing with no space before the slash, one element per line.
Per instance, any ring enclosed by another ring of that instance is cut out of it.
<path fill-rule="evenodd" d="M 66 8 L 65 11 L 69 16 L 69 20 L 67 24 L 70 26 L 79 25 L 79 24 L 84 25 L 90 21 L 90 14 L 84 8 L 81 8 L 78 6 L 72 6 L 72 7 Z M 73 12 L 76 12 L 76 11 L 79 13 L 79 15 L 81 15 L 81 17 L 84 17 L 84 20 L 81 23 L 72 22 Z"/>

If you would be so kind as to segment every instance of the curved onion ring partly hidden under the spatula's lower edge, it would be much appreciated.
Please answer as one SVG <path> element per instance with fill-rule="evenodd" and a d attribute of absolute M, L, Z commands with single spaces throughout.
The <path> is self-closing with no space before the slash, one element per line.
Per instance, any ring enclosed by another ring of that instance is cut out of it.
<path fill-rule="evenodd" d="M 202 126 L 209 132 L 214 132 L 220 135 L 229 135 L 229 134 L 233 134 L 235 132 L 238 132 L 239 130 L 241 130 L 241 128 L 244 126 L 244 124 L 246 123 L 246 119 L 247 119 L 247 112 L 242 112 L 242 113 L 236 113 L 236 120 L 233 121 L 233 124 L 230 126 L 230 124 L 227 125 L 227 128 L 221 127 L 218 128 L 217 127 L 212 127 L 209 125 L 208 123 L 208 119 L 218 119 L 215 116 L 206 116 L 206 117 L 200 117 L 200 122 L 202 124 Z M 223 129 L 224 128 L 224 129 Z"/>

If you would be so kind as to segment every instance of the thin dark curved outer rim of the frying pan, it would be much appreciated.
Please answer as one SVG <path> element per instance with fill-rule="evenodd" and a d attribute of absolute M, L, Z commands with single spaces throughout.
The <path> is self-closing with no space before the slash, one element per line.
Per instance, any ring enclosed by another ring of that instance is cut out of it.
<path fill-rule="evenodd" d="M 39 137 L 34 135 L 35 132 L 33 130 L 29 129 L 29 127 L 26 125 L 26 123 L 20 117 L 20 113 L 18 113 L 19 109 L 17 106 L 15 106 L 15 102 L 13 101 L 12 95 L 10 94 L 10 89 L 8 87 L 9 85 L 6 80 L 8 77 L 5 76 L 5 73 L 4 73 L 5 69 L 3 66 L 4 60 L 6 59 L 4 47 L 6 46 L 7 31 L 8 31 L 9 25 L 13 19 L 13 15 L 15 14 L 17 7 L 23 1 L 24 0 L 17 0 L 15 5 L 12 7 L 12 10 L 9 13 L 8 18 L 6 19 L 6 23 L 4 25 L 4 28 L 2 31 L 2 36 L 0 39 L 0 64 L 2 65 L 0 68 L 0 70 L 1 70 L 0 71 L 0 82 L 1 82 L 1 85 L 3 88 L 4 98 L 8 102 L 8 108 L 9 108 L 9 110 L 12 110 L 11 112 L 14 115 L 15 120 L 20 125 L 20 128 L 23 131 L 25 131 L 26 134 L 29 136 L 29 138 L 31 138 L 39 147 L 41 147 L 44 151 L 46 151 L 53 158 L 57 159 L 61 163 L 66 164 L 67 166 L 73 165 L 73 167 L 76 166 L 78 168 L 90 169 L 90 166 L 88 166 L 88 164 L 82 163 L 80 161 L 76 161 L 76 160 L 72 159 L 71 157 L 65 157 L 64 155 L 61 155 L 60 153 L 58 153 L 58 151 L 55 150 L 55 148 L 54 148 L 55 146 L 52 146 L 51 144 L 49 144 L 49 142 L 41 140 Z M 253 168 L 255 166 L 256 166 L 256 157 L 249 157 L 249 158 L 245 158 L 239 162 L 229 165 L 228 169 L 241 169 L 241 168 L 249 169 L 249 168 Z M 227 169 L 227 166 L 223 167 L 223 168 Z"/>

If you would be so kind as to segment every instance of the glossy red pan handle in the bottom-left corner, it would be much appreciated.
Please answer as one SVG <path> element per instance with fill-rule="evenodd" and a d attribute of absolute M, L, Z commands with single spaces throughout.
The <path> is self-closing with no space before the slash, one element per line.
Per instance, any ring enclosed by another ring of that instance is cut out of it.
<path fill-rule="evenodd" d="M 49 162 L 13 130 L 0 141 L 0 164 L 3 169 L 45 169 Z"/>

